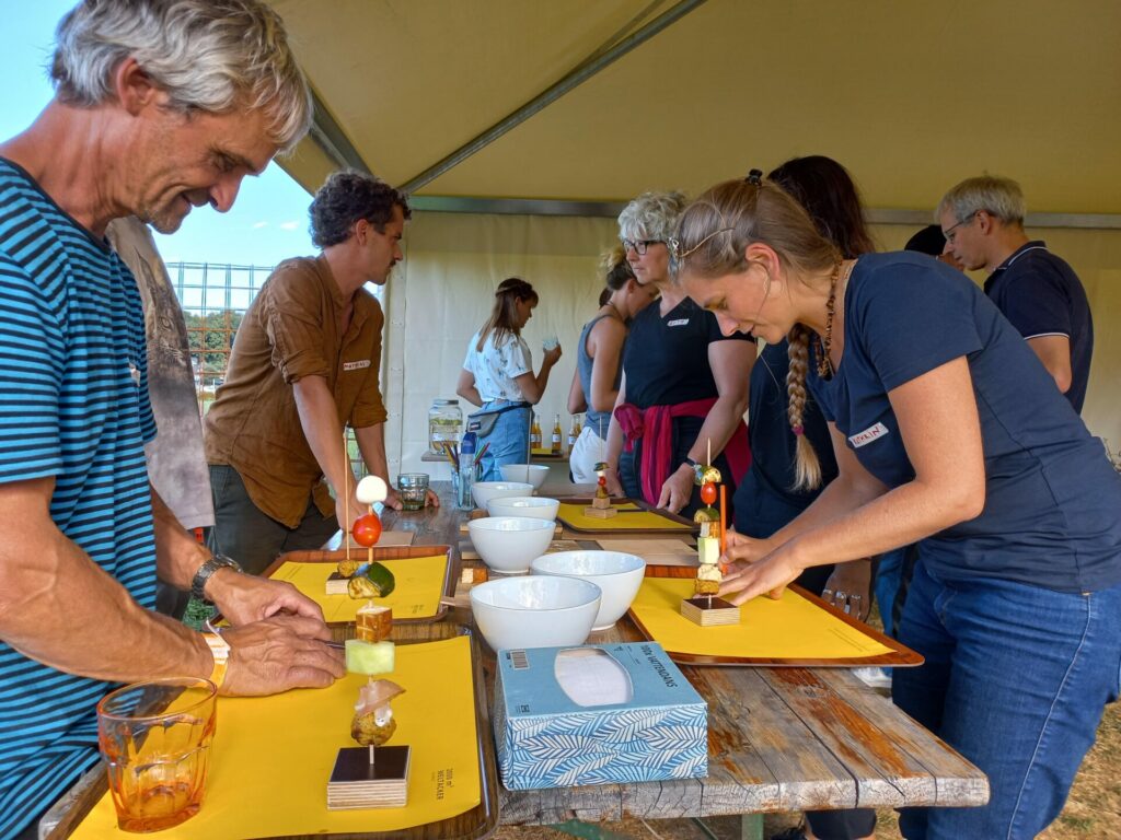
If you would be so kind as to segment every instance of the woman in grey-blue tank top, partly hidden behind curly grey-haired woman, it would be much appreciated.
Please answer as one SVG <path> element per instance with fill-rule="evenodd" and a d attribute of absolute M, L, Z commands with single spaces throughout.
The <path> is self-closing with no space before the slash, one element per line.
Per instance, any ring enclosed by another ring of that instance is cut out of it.
<path fill-rule="evenodd" d="M 576 370 L 568 392 L 568 413 L 584 416 L 584 428 L 568 454 L 568 468 L 576 484 L 596 480 L 595 465 L 608 451 L 611 412 L 622 380 L 622 355 L 631 319 L 657 296 L 652 286 L 634 279 L 627 253 L 615 245 L 603 256 L 606 298 L 600 311 L 580 333 Z"/>

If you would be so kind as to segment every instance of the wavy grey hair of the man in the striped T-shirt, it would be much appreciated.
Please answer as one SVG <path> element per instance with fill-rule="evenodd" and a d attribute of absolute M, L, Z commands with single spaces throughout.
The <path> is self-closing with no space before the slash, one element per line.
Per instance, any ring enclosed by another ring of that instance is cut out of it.
<path fill-rule="evenodd" d="M 130 56 L 183 113 L 261 109 L 290 150 L 312 123 L 307 82 L 280 16 L 259 0 L 83 0 L 58 24 L 50 76 L 58 100 L 111 100 Z"/>

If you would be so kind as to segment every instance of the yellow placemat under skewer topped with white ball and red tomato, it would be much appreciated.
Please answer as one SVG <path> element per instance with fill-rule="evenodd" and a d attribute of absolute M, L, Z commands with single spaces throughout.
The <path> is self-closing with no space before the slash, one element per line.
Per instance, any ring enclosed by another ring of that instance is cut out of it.
<path fill-rule="evenodd" d="M 355 558 L 365 552 L 354 552 Z M 377 604 L 392 608 L 397 618 L 430 618 L 439 610 L 439 599 L 444 595 L 444 576 L 447 568 L 446 554 L 433 557 L 407 557 L 399 560 L 379 560 L 393 572 L 397 586 L 388 598 L 378 598 Z M 348 595 L 327 595 L 326 585 L 334 563 L 280 564 L 272 577 L 287 580 L 299 591 L 314 600 L 323 609 L 324 620 L 353 622 L 364 598 L 354 599 Z"/>

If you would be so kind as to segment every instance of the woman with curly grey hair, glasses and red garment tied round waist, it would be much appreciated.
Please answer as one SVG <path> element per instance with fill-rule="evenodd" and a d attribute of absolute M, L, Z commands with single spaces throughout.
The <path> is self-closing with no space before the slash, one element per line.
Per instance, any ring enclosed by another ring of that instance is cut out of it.
<path fill-rule="evenodd" d="M 636 279 L 661 298 L 631 321 L 605 460 L 611 493 L 692 515 L 710 451 L 729 503 L 748 469 L 742 418 L 756 347 L 750 336 L 722 335 L 673 282 L 667 242 L 684 207 L 680 193 L 645 193 L 619 215 Z"/>

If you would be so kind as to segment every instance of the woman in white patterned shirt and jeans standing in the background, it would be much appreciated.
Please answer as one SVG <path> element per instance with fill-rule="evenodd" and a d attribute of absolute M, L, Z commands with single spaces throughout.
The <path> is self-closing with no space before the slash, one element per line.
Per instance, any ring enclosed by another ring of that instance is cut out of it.
<path fill-rule="evenodd" d="M 482 328 L 471 337 L 455 393 L 482 411 L 472 419 L 482 422 L 479 446 L 489 444 L 483 458 L 484 482 L 501 482 L 506 464 L 529 458 L 531 405 L 540 402 L 549 372 L 560 358 L 560 346 L 545 351 L 541 367 L 534 360 L 521 330 L 537 307 L 537 292 L 521 278 L 499 283 L 494 307 Z"/>

